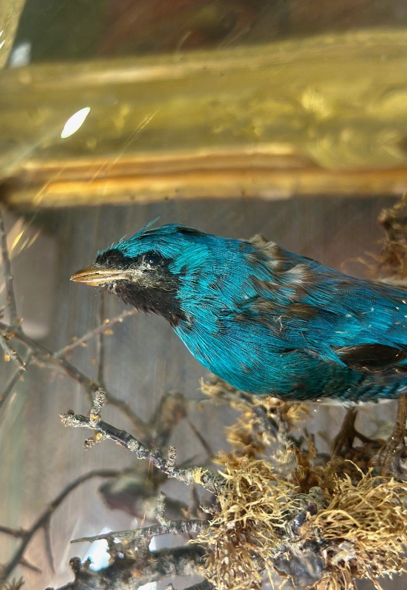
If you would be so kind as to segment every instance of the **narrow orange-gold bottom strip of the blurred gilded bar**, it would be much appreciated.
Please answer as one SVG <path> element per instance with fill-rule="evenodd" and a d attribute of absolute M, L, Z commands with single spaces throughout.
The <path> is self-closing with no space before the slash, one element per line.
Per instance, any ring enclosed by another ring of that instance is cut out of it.
<path fill-rule="evenodd" d="M 24 207 L 67 207 L 73 205 L 125 204 L 229 197 L 290 198 L 294 195 L 395 195 L 407 187 L 404 168 L 390 171 L 303 171 L 264 172 L 253 170 L 186 173 L 177 175 L 107 178 L 95 181 L 49 182 L 44 186 L 8 188 L 3 198 Z"/>

